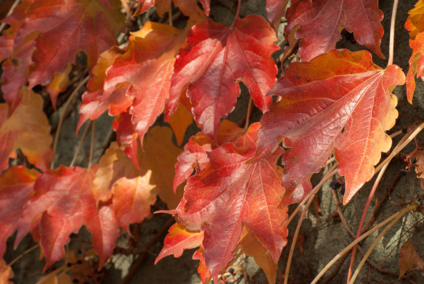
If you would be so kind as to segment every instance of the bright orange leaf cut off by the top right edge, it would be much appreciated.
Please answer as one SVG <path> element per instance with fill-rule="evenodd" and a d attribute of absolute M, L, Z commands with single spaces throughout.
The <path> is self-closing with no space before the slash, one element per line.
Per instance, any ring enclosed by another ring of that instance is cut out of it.
<path fill-rule="evenodd" d="M 405 28 L 409 30 L 409 46 L 412 55 L 409 58 L 409 70 L 406 77 L 407 99 L 412 103 L 416 88 L 415 78 L 424 80 L 424 0 L 415 4 L 414 9 L 409 10 L 409 17 Z"/>

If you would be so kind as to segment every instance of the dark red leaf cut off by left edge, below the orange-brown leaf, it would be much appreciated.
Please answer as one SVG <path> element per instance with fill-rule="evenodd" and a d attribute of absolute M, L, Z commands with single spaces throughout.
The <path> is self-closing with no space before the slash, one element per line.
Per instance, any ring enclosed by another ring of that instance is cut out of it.
<path fill-rule="evenodd" d="M 0 258 L 6 251 L 6 240 L 15 232 L 22 208 L 33 192 L 38 176 L 37 170 L 28 170 L 24 166 L 13 166 L 0 175 Z"/>

